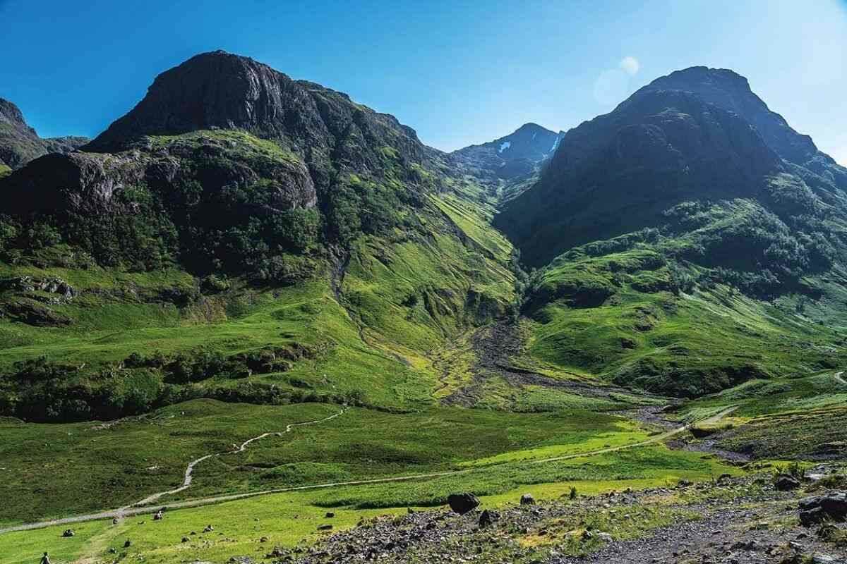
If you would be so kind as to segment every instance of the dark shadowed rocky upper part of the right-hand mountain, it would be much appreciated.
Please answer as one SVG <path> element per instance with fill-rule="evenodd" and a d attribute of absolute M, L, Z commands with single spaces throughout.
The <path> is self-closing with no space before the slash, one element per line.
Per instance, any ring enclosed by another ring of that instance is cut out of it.
<path fill-rule="evenodd" d="M 783 173 L 802 183 L 796 197 L 811 190 L 815 203 L 803 205 L 844 208 L 847 169 L 770 112 L 743 77 L 688 68 L 568 131 L 540 182 L 495 225 L 541 266 L 580 244 L 659 227 L 686 200 L 759 199 Z"/>

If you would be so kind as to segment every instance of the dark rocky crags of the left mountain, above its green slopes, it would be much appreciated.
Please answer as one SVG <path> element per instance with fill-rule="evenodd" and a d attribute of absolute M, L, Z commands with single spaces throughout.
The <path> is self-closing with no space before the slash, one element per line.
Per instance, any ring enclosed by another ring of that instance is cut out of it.
<path fill-rule="evenodd" d="M 0 212 L 46 224 L 102 264 L 178 260 L 265 279 L 291 270 L 280 255 L 340 249 L 401 226 L 428 205 L 424 194 L 439 189 L 446 166 L 393 116 L 209 52 L 160 74 L 80 151 L 36 158 L 4 178 L 14 197 Z"/>

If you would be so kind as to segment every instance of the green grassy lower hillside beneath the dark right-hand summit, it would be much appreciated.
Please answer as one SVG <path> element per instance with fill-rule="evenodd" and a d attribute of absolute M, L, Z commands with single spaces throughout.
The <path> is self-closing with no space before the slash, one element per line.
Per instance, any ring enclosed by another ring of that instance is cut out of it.
<path fill-rule="evenodd" d="M 843 366 L 847 278 L 833 264 L 770 285 L 751 263 L 779 232 L 748 232 L 760 212 L 747 200 L 724 202 L 702 211 L 692 231 L 631 233 L 557 258 L 529 281 L 530 351 L 683 397 Z M 713 249 L 704 254 L 704 245 Z M 716 256 L 721 264 L 710 264 Z M 735 269 L 722 266 L 732 257 Z"/>

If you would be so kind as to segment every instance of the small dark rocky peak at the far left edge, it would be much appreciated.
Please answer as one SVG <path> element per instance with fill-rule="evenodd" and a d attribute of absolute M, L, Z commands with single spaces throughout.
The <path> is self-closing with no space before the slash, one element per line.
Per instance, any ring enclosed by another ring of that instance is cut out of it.
<path fill-rule="evenodd" d="M 75 136 L 42 139 L 26 124 L 19 107 L 0 98 L 0 169 L 16 169 L 48 153 L 69 153 L 87 142 Z"/>

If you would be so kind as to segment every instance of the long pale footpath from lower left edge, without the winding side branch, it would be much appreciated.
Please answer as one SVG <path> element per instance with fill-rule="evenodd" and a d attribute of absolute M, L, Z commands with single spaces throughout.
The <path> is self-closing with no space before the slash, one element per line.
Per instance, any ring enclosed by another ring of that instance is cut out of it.
<path fill-rule="evenodd" d="M 647 439 L 646 441 L 641 441 L 638 443 L 633 443 L 631 445 L 622 445 L 622 446 L 613 446 L 610 448 L 601 448 L 599 450 L 590 451 L 590 452 L 576 452 L 573 454 L 568 454 L 562 457 L 550 457 L 550 458 L 542 458 L 534 461 L 527 461 L 534 464 L 541 463 L 551 463 L 562 460 L 568 460 L 573 458 L 583 458 L 583 457 L 593 457 L 599 454 L 606 454 L 608 452 L 617 452 L 624 451 L 631 448 L 637 448 L 639 446 L 648 446 L 650 444 L 655 444 L 659 441 L 664 441 L 667 438 L 672 437 L 673 435 L 678 435 L 679 433 L 684 432 L 685 430 L 689 430 L 695 424 L 715 424 L 717 421 L 726 417 L 729 413 L 733 413 L 738 406 L 731 406 L 729 408 L 723 409 L 721 412 L 712 415 L 707 419 L 702 419 L 700 421 L 694 421 L 689 424 L 684 424 L 681 427 L 678 427 L 673 430 L 669 430 L 666 433 L 662 433 L 661 435 L 656 435 Z M 342 412 L 343 413 L 343 410 Z M 337 417 L 340 413 L 336 413 L 333 417 Z M 305 424 L 311 424 L 313 422 L 307 422 Z M 211 455 L 214 456 L 214 455 Z M 509 463 L 495 464 L 492 466 L 501 466 Z M 491 466 L 484 468 L 468 468 L 462 470 L 447 470 L 445 472 L 435 472 L 430 474 L 412 474 L 408 476 L 394 476 L 388 478 L 374 478 L 374 479 L 361 479 L 361 480 L 352 480 L 347 482 L 331 482 L 329 484 L 316 484 L 316 485 L 299 485 L 291 488 L 278 488 L 275 490 L 263 490 L 263 491 L 252 491 L 244 494 L 232 494 L 230 496 L 213 496 L 213 497 L 205 497 L 196 500 L 188 500 L 188 501 L 178 501 L 176 503 L 170 503 L 168 505 L 169 510 L 173 509 L 186 509 L 189 507 L 202 507 L 207 505 L 212 505 L 213 503 L 223 503 L 224 501 L 236 501 L 241 499 L 246 499 L 250 497 L 258 497 L 258 496 L 269 496 L 272 494 L 281 494 L 290 491 L 302 491 L 302 490 L 325 490 L 329 488 L 335 487 L 343 487 L 348 485 L 368 485 L 368 484 L 385 484 L 390 482 L 403 482 L 409 481 L 413 479 L 430 479 L 430 478 L 441 478 L 445 476 L 457 476 L 460 474 L 470 474 L 472 472 L 480 472 L 491 468 Z M 25 523 L 23 525 L 15 525 L 13 527 L 0 528 L 0 534 L 4 533 L 13 533 L 15 531 L 25 531 L 31 530 L 35 528 L 45 528 L 52 527 L 54 525 L 64 525 L 68 523 L 83 523 L 86 521 L 96 521 L 98 519 L 109 519 L 109 518 L 123 518 L 130 517 L 132 515 L 141 515 L 144 513 L 153 513 L 157 510 L 153 507 L 137 507 L 130 506 L 124 507 L 117 510 L 98 512 L 98 513 L 90 513 L 87 515 L 78 515 L 75 517 L 64 517 L 61 519 L 53 519 L 51 521 L 42 521 L 39 523 Z"/>

